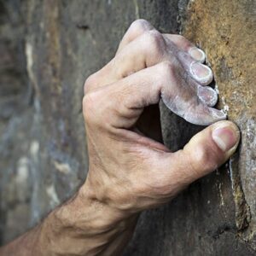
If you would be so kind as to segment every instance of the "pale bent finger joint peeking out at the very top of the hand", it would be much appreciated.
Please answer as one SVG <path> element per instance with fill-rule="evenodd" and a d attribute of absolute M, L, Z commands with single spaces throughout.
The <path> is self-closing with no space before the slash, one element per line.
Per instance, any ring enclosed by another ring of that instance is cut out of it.
<path fill-rule="evenodd" d="M 127 32 L 125 32 L 124 38 L 121 40 L 119 44 L 119 48 L 116 52 L 116 55 L 120 52 L 120 50 L 124 49 L 125 46 L 135 38 L 141 36 L 144 32 L 153 30 L 154 26 L 152 26 L 147 20 L 135 20 L 131 23 L 131 26 L 128 28 Z"/>

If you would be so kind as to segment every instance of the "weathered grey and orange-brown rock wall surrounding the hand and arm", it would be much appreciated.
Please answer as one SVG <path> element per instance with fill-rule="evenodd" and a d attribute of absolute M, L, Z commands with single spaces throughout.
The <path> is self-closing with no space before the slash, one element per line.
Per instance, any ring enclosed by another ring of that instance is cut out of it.
<path fill-rule="evenodd" d="M 125 255 L 255 254 L 255 9 L 251 0 L 0 1 L 2 242 L 84 181 L 84 79 L 113 57 L 131 21 L 144 18 L 206 50 L 218 107 L 240 125 L 242 141 L 217 172 L 143 212 Z M 172 150 L 202 129 L 160 105 Z"/>

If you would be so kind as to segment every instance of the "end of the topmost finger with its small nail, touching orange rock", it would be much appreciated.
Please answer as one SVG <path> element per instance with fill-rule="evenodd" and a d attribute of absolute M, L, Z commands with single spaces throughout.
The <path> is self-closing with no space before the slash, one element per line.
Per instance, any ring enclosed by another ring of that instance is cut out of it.
<path fill-rule="evenodd" d="M 184 38 L 181 35 L 173 34 L 164 34 L 166 39 L 171 40 L 174 44 L 177 45 L 179 49 L 189 53 L 189 55 L 195 60 L 203 63 L 206 61 L 206 54 L 202 49 L 195 47 L 195 44 L 192 44 L 187 38 Z"/>

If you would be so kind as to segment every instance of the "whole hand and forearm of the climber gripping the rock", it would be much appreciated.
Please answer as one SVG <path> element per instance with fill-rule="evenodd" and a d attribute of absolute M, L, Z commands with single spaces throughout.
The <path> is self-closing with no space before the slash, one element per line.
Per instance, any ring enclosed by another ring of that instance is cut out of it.
<path fill-rule="evenodd" d="M 212 72 L 200 64 L 204 58 L 185 38 L 133 22 L 113 60 L 84 85 L 86 181 L 0 255 L 120 255 L 140 212 L 171 201 L 228 160 L 239 131 L 230 121 L 214 123 L 225 117 L 212 108 L 216 95 L 206 87 Z M 172 153 L 161 143 L 160 98 L 190 122 L 214 124 Z"/>

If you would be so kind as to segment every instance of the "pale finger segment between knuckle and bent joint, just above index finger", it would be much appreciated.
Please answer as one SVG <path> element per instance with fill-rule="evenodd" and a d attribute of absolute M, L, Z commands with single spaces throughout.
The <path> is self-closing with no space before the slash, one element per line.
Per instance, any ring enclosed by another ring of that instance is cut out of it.
<path fill-rule="evenodd" d="M 144 32 L 128 44 L 105 67 L 89 77 L 90 86 L 88 84 L 84 86 L 84 94 L 102 84 L 112 84 L 131 73 L 154 66 L 160 61 L 164 61 L 164 58 L 170 59 L 171 57 L 173 56 L 166 52 L 166 41 L 160 32 L 156 30 Z"/>

